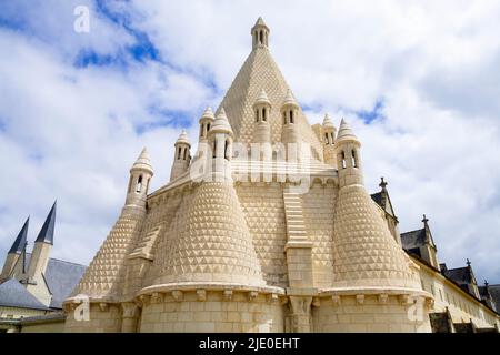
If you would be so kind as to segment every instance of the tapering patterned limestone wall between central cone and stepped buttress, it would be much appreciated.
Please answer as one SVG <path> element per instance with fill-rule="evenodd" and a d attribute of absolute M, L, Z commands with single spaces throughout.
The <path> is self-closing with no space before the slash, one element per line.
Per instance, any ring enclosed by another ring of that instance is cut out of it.
<path fill-rule="evenodd" d="M 281 184 L 241 183 L 236 185 L 236 191 L 253 240 L 263 278 L 269 285 L 286 287 L 287 232 Z"/>

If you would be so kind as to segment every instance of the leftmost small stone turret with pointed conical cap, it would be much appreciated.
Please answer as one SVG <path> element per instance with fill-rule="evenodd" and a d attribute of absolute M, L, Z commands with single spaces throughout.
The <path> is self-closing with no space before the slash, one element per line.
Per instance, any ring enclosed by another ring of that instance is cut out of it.
<path fill-rule="evenodd" d="M 127 190 L 126 206 L 146 209 L 149 183 L 153 176 L 148 150 L 142 149 L 139 158 L 130 169 L 129 187 Z"/>

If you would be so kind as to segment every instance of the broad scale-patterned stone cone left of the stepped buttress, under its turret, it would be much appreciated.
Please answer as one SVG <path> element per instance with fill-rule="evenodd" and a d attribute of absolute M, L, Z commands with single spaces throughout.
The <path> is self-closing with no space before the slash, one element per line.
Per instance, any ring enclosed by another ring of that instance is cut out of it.
<path fill-rule="evenodd" d="M 206 182 L 159 244 L 154 284 L 232 283 L 266 285 L 232 183 Z"/>

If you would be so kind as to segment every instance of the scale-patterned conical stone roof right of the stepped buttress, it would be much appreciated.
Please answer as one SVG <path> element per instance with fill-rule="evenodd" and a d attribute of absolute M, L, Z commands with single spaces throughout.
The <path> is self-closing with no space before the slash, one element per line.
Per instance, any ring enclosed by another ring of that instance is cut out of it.
<path fill-rule="evenodd" d="M 340 189 L 333 221 L 334 287 L 421 288 L 364 186 Z"/>

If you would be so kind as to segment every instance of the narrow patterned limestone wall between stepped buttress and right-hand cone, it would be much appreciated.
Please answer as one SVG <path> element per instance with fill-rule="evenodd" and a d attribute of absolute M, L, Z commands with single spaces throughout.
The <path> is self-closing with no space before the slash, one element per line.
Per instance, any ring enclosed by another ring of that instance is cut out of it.
<path fill-rule="evenodd" d="M 306 230 L 312 247 L 314 287 L 330 287 L 333 275 L 333 212 L 337 200 L 333 183 L 314 183 L 303 195 Z"/>

